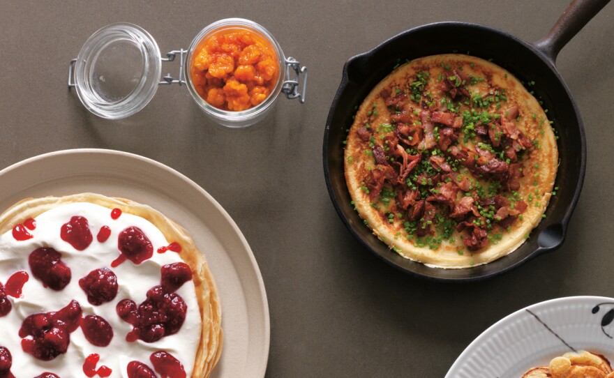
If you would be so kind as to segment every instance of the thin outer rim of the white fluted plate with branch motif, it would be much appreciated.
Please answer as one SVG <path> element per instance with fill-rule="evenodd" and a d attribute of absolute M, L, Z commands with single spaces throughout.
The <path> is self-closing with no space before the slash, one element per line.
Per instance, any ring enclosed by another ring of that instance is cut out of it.
<path fill-rule="evenodd" d="M 590 296 L 590 295 L 562 296 L 559 298 L 552 298 L 552 299 L 547 299 L 546 301 L 533 303 L 532 305 L 527 305 L 514 312 L 511 312 L 511 314 L 506 315 L 505 317 L 502 317 L 502 319 L 499 319 L 497 322 L 495 322 L 495 324 L 492 324 L 491 326 L 486 328 L 484 331 L 482 331 L 477 336 L 477 338 L 474 338 L 474 340 L 472 340 L 472 342 L 470 342 L 470 344 L 467 345 L 467 347 L 465 347 L 463 352 L 458 355 L 454 363 L 450 366 L 444 378 L 452 378 L 452 374 L 455 374 L 456 370 L 461 368 L 461 364 L 464 362 L 463 360 L 466 360 L 467 357 L 470 356 L 470 354 L 473 352 L 472 349 L 475 349 L 477 345 L 480 345 L 485 340 L 488 340 L 488 338 L 491 337 L 491 333 L 493 333 L 493 331 L 496 331 L 497 328 L 499 328 L 502 324 L 509 322 L 511 319 L 514 319 L 515 317 L 518 317 L 521 313 L 525 313 L 526 310 L 537 310 L 538 308 L 547 308 L 551 305 L 556 305 L 556 304 L 560 304 L 564 302 L 574 302 L 574 301 L 584 301 L 584 300 L 587 300 L 587 301 L 589 300 L 590 301 L 592 300 L 594 301 L 614 301 L 614 298 L 611 298 L 608 296 Z"/>

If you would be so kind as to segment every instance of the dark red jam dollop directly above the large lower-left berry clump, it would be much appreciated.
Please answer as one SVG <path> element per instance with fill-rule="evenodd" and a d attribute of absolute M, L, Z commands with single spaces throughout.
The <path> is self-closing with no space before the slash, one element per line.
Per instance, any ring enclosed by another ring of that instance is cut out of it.
<path fill-rule="evenodd" d="M 38 248 L 30 253 L 28 263 L 34 277 L 44 287 L 61 290 L 70 282 L 70 268 L 62 262 L 62 255 L 53 248 Z"/>

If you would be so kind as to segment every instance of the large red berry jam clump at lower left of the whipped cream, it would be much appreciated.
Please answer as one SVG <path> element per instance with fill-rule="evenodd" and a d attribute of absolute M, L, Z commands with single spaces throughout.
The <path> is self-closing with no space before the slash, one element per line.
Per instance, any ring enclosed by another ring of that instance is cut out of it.
<path fill-rule="evenodd" d="M 22 349 L 43 361 L 50 361 L 66 353 L 70 344 L 70 333 L 79 327 L 81 314 L 79 303 L 70 301 L 65 308 L 57 312 L 30 315 L 24 319 L 19 331 Z M 27 336 L 32 338 L 27 339 Z"/>

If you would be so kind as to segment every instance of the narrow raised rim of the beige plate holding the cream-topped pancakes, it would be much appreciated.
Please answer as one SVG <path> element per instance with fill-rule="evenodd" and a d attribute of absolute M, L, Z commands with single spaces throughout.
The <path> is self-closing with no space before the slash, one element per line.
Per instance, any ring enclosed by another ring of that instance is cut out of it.
<path fill-rule="evenodd" d="M 239 226 L 237 226 L 237 223 L 234 222 L 230 214 L 228 214 L 227 211 L 225 211 L 225 209 L 219 204 L 219 202 L 216 201 L 216 199 L 214 199 L 214 197 L 212 197 L 209 194 L 209 192 L 207 192 L 207 190 L 204 190 L 204 188 L 202 188 L 200 185 L 195 183 L 195 181 L 190 179 L 188 176 L 177 171 L 177 169 L 169 167 L 168 165 L 165 165 L 151 158 L 147 158 L 145 156 L 137 155 L 136 153 L 130 153 L 126 151 L 119 151 L 119 150 L 113 150 L 113 149 L 92 149 L 92 148 L 63 149 L 59 151 L 42 153 L 40 155 L 32 156 L 30 158 L 20 160 L 11 165 L 8 165 L 7 167 L 4 167 L 3 169 L 0 170 L 0 179 L 6 174 L 8 174 L 9 172 L 13 172 L 15 169 L 20 169 L 20 167 L 22 166 L 40 162 L 40 160 L 54 158 L 57 156 L 69 156 L 69 155 L 80 155 L 80 154 L 84 154 L 84 155 L 90 154 L 90 155 L 99 155 L 99 156 L 121 156 L 122 158 L 140 160 L 140 162 L 144 162 L 146 164 L 153 165 L 156 168 L 162 169 L 163 171 L 168 172 L 172 176 L 175 176 L 181 179 L 181 181 L 183 181 L 188 186 L 190 186 L 191 188 L 199 192 L 200 195 L 206 198 L 217 209 L 217 211 L 220 212 L 221 216 L 223 216 L 223 218 L 228 222 L 228 225 L 230 225 L 232 231 L 238 236 L 241 245 L 247 252 L 247 257 L 249 259 L 251 266 L 254 269 L 255 277 L 257 279 L 258 290 L 262 298 L 262 315 L 264 316 L 264 330 L 263 330 L 264 331 L 264 345 L 262 345 L 264 361 L 262 361 L 261 372 L 257 376 L 264 377 L 264 375 L 267 372 L 267 366 L 269 363 L 269 352 L 270 352 L 270 344 L 271 344 L 271 317 L 269 313 L 269 301 L 267 298 L 267 291 L 266 291 L 266 288 L 264 287 L 264 280 L 262 279 L 262 272 L 260 271 L 260 267 L 257 264 L 253 251 L 251 250 L 250 245 L 247 242 L 247 239 L 245 238 L 243 232 L 241 232 L 241 229 L 239 229 Z"/>

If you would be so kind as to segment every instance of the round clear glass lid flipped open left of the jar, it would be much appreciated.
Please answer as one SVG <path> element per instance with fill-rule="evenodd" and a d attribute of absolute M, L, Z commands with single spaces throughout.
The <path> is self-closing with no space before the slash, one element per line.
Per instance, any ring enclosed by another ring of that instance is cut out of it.
<path fill-rule="evenodd" d="M 156 40 L 135 24 L 110 24 L 84 43 L 75 59 L 75 89 L 92 113 L 121 119 L 156 94 L 162 62 Z"/>

